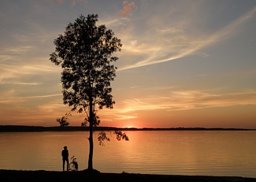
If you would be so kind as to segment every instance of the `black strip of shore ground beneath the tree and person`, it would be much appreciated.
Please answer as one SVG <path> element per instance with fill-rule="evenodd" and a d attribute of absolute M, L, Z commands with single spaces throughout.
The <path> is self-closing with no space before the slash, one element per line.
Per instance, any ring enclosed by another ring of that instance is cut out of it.
<path fill-rule="evenodd" d="M 256 178 L 243 177 L 218 177 L 218 176 L 177 176 L 177 175 L 143 175 L 143 174 L 114 174 L 95 172 L 94 174 L 87 171 L 23 171 L 23 170 L 0 170 L 0 181 L 256 181 Z"/>

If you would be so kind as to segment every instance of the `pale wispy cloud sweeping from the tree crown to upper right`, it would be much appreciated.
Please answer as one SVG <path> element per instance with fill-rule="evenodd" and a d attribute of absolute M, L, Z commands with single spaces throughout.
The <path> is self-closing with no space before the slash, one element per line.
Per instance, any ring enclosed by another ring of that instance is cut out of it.
<path fill-rule="evenodd" d="M 175 28 L 158 28 L 156 26 L 155 31 L 151 32 L 151 38 L 145 38 L 139 42 L 137 39 L 131 37 L 124 37 L 123 51 L 125 55 L 140 56 L 142 60 L 137 59 L 137 62 L 129 65 L 125 64 L 118 68 L 118 71 L 127 70 L 129 68 L 135 68 L 140 66 L 152 65 L 167 62 L 170 60 L 185 57 L 190 54 L 195 54 L 196 51 L 216 44 L 221 41 L 223 37 L 231 37 L 243 26 L 243 23 L 255 16 L 256 7 L 247 12 L 240 18 L 228 24 L 221 30 L 207 36 L 193 37 L 186 34 L 182 29 Z M 145 33 L 147 35 L 147 32 Z M 155 36 L 154 36 L 155 34 Z M 130 39 L 130 40 L 129 40 Z M 197 54 L 197 53 L 196 53 Z M 202 54 L 207 56 L 206 53 Z"/>

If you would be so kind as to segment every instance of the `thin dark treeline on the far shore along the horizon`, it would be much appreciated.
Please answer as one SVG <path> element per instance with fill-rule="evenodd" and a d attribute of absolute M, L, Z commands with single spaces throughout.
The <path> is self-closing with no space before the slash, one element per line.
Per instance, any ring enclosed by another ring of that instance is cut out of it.
<path fill-rule="evenodd" d="M 252 131 L 256 129 L 243 128 L 116 128 L 116 127 L 95 127 L 95 131 Z M 89 127 L 82 126 L 22 126 L 22 125 L 0 125 L 0 132 L 67 132 L 67 131 L 89 131 Z"/>

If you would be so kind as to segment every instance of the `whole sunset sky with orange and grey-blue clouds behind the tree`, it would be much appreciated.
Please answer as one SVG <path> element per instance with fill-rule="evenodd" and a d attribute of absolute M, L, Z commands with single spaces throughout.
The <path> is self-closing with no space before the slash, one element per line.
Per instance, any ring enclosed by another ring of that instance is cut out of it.
<path fill-rule="evenodd" d="M 0 125 L 58 126 L 69 112 L 49 54 L 81 14 L 123 44 L 101 126 L 256 128 L 255 0 L 1 0 Z"/>

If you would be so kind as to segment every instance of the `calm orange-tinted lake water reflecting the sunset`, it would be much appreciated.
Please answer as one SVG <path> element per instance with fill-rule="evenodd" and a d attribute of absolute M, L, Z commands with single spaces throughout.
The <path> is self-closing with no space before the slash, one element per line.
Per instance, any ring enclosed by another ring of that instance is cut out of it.
<path fill-rule="evenodd" d="M 256 177 L 256 131 L 128 131 L 98 145 L 93 167 L 101 172 Z M 62 170 L 67 145 L 79 170 L 87 168 L 88 132 L 0 133 L 0 169 Z M 70 156 L 70 157 L 71 157 Z"/>

